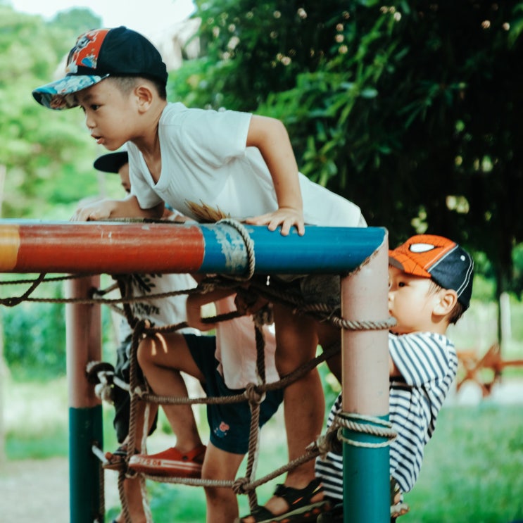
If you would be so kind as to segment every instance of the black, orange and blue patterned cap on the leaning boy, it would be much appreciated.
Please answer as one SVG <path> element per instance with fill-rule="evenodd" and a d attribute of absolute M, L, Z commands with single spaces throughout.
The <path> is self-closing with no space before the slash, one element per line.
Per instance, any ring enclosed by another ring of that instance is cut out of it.
<path fill-rule="evenodd" d="M 109 76 L 137 76 L 167 84 L 167 68 L 146 37 L 120 26 L 80 34 L 70 50 L 65 77 L 37 87 L 34 99 L 50 109 L 77 106 L 75 96 Z"/>

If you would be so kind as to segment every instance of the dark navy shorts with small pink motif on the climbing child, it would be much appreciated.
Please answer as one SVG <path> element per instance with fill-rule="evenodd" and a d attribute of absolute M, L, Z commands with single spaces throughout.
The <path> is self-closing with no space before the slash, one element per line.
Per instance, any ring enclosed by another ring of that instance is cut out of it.
<path fill-rule="evenodd" d="M 229 389 L 218 372 L 218 360 L 214 357 L 216 350 L 215 336 L 196 336 L 184 334 L 187 346 L 205 377 L 201 384 L 208 397 L 235 396 L 244 389 Z M 275 414 L 283 401 L 283 390 L 268 391 L 260 405 L 260 427 Z M 207 420 L 210 427 L 210 441 L 216 448 L 234 454 L 246 454 L 248 450 L 249 431 L 251 429 L 251 409 L 248 401 L 240 403 L 221 403 L 207 405 Z"/>

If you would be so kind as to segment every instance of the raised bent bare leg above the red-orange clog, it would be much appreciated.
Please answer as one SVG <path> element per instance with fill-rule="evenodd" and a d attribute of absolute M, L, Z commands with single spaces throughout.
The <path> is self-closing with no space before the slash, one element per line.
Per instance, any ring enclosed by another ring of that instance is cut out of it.
<path fill-rule="evenodd" d="M 144 339 L 138 348 L 138 362 L 151 389 L 159 396 L 189 396 L 180 371 L 203 379 L 182 334 L 156 334 Z M 180 452 L 187 453 L 201 445 L 191 405 L 163 405 L 163 410 Z"/>

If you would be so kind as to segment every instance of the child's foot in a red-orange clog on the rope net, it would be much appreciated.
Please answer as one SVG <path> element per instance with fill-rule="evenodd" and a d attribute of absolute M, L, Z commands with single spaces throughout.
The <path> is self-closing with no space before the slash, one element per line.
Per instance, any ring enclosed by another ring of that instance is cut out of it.
<path fill-rule="evenodd" d="M 135 454 L 129 461 L 129 468 L 151 476 L 199 478 L 205 453 L 206 446 L 199 445 L 184 454 L 175 447 L 157 454 Z"/>

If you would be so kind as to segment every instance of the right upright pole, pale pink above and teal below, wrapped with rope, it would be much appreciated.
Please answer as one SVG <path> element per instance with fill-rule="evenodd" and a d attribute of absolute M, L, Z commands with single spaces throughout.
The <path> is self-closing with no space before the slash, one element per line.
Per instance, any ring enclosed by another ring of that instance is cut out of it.
<path fill-rule="evenodd" d="M 388 239 L 341 282 L 346 320 L 384 321 L 389 316 Z M 386 330 L 344 330 L 342 334 L 343 411 L 389 419 L 389 351 Z M 357 420 L 373 424 L 372 420 Z M 344 428 L 344 523 L 390 520 L 389 447 L 378 436 Z M 367 446 L 368 445 L 368 446 Z"/>

